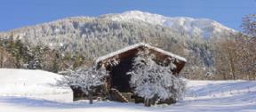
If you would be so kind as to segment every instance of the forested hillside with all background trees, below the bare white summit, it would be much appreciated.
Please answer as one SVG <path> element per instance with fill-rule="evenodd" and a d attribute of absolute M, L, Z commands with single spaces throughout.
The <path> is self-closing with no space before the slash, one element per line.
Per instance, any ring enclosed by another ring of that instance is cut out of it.
<path fill-rule="evenodd" d="M 193 31 L 185 31 L 188 28 L 186 20 L 173 27 L 145 20 L 113 20 L 114 17 L 74 17 L 2 32 L 1 68 L 41 68 L 60 72 L 90 66 L 97 57 L 144 42 L 187 58 L 182 75 L 188 78 L 255 77 L 255 39 L 251 36 L 223 28 L 219 23 L 217 28 L 215 21 L 208 28 L 202 24 L 201 33 L 198 33 L 195 32 L 198 27 L 191 28 L 196 21 L 191 20 L 189 30 Z M 205 37 L 205 34 L 209 35 Z M 240 68 L 244 64 L 250 69 Z"/>

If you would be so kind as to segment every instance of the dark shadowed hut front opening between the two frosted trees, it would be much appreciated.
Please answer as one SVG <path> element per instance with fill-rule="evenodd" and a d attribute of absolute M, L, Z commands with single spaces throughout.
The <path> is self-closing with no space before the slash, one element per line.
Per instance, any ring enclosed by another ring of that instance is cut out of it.
<path fill-rule="evenodd" d="M 129 84 L 131 76 L 126 75 L 132 68 L 132 59 L 132 57 L 125 58 L 111 69 L 111 88 L 116 88 L 119 92 L 132 91 Z"/>

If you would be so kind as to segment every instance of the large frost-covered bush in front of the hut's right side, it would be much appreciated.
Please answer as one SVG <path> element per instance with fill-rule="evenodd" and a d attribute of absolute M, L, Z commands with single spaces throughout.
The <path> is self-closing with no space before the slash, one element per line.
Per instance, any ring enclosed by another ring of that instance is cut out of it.
<path fill-rule="evenodd" d="M 185 83 L 172 75 L 171 66 L 156 64 L 156 57 L 148 50 L 138 52 L 133 60 L 130 84 L 134 92 L 144 98 L 145 106 L 157 103 L 157 100 L 179 100 L 185 91 Z"/>

